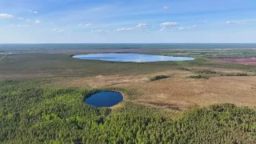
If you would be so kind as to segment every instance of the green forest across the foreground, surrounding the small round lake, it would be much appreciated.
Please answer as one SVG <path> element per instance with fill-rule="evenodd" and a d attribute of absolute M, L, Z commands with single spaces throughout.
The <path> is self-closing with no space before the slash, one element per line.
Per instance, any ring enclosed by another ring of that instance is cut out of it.
<path fill-rule="evenodd" d="M 83 102 L 94 91 L 1 80 L 0 143 L 256 142 L 256 111 L 246 107 L 223 104 L 174 115 L 129 101 L 95 108 Z"/>

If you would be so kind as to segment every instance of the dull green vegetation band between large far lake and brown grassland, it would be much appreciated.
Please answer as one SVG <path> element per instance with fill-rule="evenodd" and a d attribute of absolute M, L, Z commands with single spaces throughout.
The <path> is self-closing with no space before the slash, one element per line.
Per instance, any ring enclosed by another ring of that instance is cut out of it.
<path fill-rule="evenodd" d="M 184 62 L 102 62 L 71 58 L 66 54 L 10 54 L 0 61 L 0 74 L 44 75 L 55 77 L 92 77 L 98 75 L 152 74 L 165 70 L 186 70 L 206 66 L 256 72 L 256 66 L 215 62 L 205 58 Z"/>

